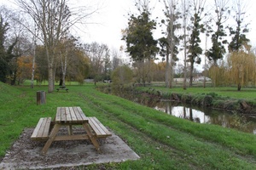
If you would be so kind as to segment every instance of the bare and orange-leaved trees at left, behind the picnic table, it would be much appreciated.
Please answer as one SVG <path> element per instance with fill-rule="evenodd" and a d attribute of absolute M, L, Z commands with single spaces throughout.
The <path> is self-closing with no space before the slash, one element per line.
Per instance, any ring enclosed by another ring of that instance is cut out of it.
<path fill-rule="evenodd" d="M 67 0 L 16 0 L 16 4 L 18 10 L 1 7 L 2 82 L 15 84 L 32 77 L 33 87 L 34 79 L 48 80 L 50 93 L 58 80 L 65 85 L 66 78 L 84 82 L 85 77 L 103 77 L 102 72 L 109 77 L 107 45 L 80 44 L 71 34 L 74 26 L 86 24 L 98 8 L 71 8 Z M 115 65 L 120 63 L 118 55 L 113 54 Z"/>

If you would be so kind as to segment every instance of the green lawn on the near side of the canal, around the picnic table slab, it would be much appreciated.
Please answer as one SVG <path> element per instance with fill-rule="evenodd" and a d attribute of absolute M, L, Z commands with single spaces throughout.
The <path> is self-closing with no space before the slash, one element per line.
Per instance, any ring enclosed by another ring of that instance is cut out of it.
<path fill-rule="evenodd" d="M 141 156 L 138 161 L 106 164 L 107 169 L 256 169 L 253 134 L 168 116 L 100 93 L 92 84 L 68 88 L 69 93 L 46 94 L 47 104 L 36 105 L 36 92 L 47 91 L 46 86 L 32 89 L 0 83 L 0 159 L 25 127 L 35 127 L 39 117 L 53 117 L 57 106 L 80 106 Z"/>

